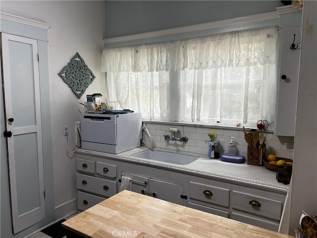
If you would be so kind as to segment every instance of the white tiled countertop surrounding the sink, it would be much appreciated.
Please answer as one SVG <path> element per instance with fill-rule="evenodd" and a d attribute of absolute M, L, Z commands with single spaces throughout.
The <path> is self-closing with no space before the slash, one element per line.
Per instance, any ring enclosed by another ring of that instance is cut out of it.
<path fill-rule="evenodd" d="M 159 162 L 149 159 L 142 159 L 134 157 L 134 155 L 141 153 L 143 151 L 149 150 L 149 148 L 141 146 L 126 152 L 119 154 L 110 154 L 105 152 L 91 151 L 85 149 L 77 149 L 76 153 L 86 154 L 98 157 L 107 157 L 116 160 L 136 162 L 143 165 L 151 165 L 154 167 L 160 167 L 164 169 L 182 171 L 189 174 L 199 174 L 206 177 L 225 179 L 231 181 L 238 181 L 247 184 L 254 184 L 261 187 L 269 187 L 270 189 L 275 189 L 278 191 L 287 192 L 289 189 L 289 184 L 283 184 L 277 182 L 276 172 L 267 170 L 264 166 L 249 165 L 247 163 L 234 164 L 223 162 L 220 159 L 210 159 L 206 155 L 175 151 L 170 149 L 155 148 L 158 151 L 172 152 L 183 155 L 191 155 L 200 157 L 198 160 L 188 164 L 188 165 L 177 165 L 165 162 Z"/>

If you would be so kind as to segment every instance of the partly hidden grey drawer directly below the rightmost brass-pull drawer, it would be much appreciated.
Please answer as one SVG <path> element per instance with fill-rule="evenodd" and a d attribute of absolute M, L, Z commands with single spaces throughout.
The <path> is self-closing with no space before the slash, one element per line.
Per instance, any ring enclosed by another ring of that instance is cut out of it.
<path fill-rule="evenodd" d="M 247 223 L 253 226 L 262 227 L 274 232 L 277 232 L 279 227 L 279 223 L 265 221 L 263 219 L 249 217 L 249 216 L 245 216 L 245 215 L 234 213 L 234 212 L 231 214 L 231 219 L 239 221 L 239 222 Z"/>

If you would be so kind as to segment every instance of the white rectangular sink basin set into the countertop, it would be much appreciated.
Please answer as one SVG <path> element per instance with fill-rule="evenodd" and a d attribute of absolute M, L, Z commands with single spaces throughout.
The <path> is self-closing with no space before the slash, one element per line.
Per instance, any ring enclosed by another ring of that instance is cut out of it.
<path fill-rule="evenodd" d="M 165 162 L 175 165 L 188 165 L 195 160 L 198 160 L 200 157 L 191 156 L 191 155 L 182 155 L 172 152 L 164 152 L 157 150 L 146 150 L 139 154 L 133 155 L 133 157 L 155 160 L 159 162 Z"/>

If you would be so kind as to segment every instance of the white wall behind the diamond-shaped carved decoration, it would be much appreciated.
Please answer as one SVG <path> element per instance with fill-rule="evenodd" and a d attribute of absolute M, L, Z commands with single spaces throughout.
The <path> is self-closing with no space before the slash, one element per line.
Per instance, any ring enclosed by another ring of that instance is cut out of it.
<path fill-rule="evenodd" d="M 66 154 L 67 138 L 62 134 L 63 125 L 70 129 L 68 150 L 71 151 L 74 148 L 73 125 L 83 112 L 79 102 L 84 102 L 87 94 L 105 95 L 106 92 L 105 75 L 101 72 L 104 9 L 104 1 L 1 0 L 1 12 L 51 25 L 48 39 L 56 219 L 76 210 L 74 159 Z M 96 76 L 81 99 L 58 76 L 77 52 Z"/>

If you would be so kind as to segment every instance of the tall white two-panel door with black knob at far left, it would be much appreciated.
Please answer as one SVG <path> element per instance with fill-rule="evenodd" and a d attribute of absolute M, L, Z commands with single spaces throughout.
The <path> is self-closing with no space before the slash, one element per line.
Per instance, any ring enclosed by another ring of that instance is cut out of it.
<path fill-rule="evenodd" d="M 37 40 L 1 34 L 13 233 L 45 219 Z M 10 135 L 10 132 L 12 135 Z"/>

